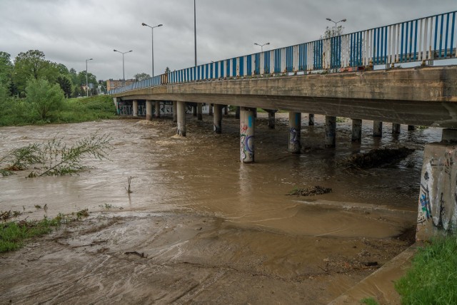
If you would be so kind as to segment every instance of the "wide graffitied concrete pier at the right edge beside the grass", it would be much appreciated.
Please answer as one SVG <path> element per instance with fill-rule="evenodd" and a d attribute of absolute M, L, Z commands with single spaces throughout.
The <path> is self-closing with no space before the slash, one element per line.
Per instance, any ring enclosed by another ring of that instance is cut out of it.
<path fill-rule="evenodd" d="M 455 234 L 457 227 L 457 130 L 443 129 L 440 143 L 423 150 L 417 240 Z"/>

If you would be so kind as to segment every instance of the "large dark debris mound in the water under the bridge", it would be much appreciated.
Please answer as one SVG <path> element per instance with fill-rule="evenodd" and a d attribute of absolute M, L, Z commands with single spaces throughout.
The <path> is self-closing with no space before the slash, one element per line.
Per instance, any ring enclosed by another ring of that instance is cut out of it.
<path fill-rule="evenodd" d="M 413 151 L 413 149 L 405 147 L 398 149 L 381 148 L 378 150 L 370 150 L 368 153 L 351 155 L 351 157 L 348 157 L 346 162 L 351 167 L 363 169 L 381 167 L 382 165 L 389 165 L 393 162 L 401 160 L 413 153 Z"/>

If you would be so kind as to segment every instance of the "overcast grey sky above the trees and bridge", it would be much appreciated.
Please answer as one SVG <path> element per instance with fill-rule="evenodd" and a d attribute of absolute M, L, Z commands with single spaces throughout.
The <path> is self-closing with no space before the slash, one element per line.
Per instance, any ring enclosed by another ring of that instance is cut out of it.
<path fill-rule="evenodd" d="M 326 18 L 347 19 L 344 33 L 457 9 L 456 0 L 196 0 L 197 61 L 209 63 L 269 48 L 313 41 Z M 194 66 L 194 0 L 0 0 L 0 51 L 30 49 L 98 79 L 151 75 Z"/>

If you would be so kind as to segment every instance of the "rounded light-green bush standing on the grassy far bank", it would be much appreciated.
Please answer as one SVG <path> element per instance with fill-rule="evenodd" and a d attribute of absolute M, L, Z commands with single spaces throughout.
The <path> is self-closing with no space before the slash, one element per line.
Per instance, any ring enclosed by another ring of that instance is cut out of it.
<path fill-rule="evenodd" d="M 46 120 L 52 111 L 61 109 L 64 103 L 64 92 L 58 84 L 52 85 L 43 78 L 31 79 L 26 86 L 26 102 Z"/>

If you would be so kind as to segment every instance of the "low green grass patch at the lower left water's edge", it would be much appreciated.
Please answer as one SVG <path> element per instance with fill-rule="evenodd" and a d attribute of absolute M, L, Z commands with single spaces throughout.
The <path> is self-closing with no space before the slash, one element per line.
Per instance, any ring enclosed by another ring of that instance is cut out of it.
<path fill-rule="evenodd" d="M 0 253 L 19 249 L 27 239 L 48 234 L 59 225 L 60 221 L 57 218 L 0 224 Z"/>

